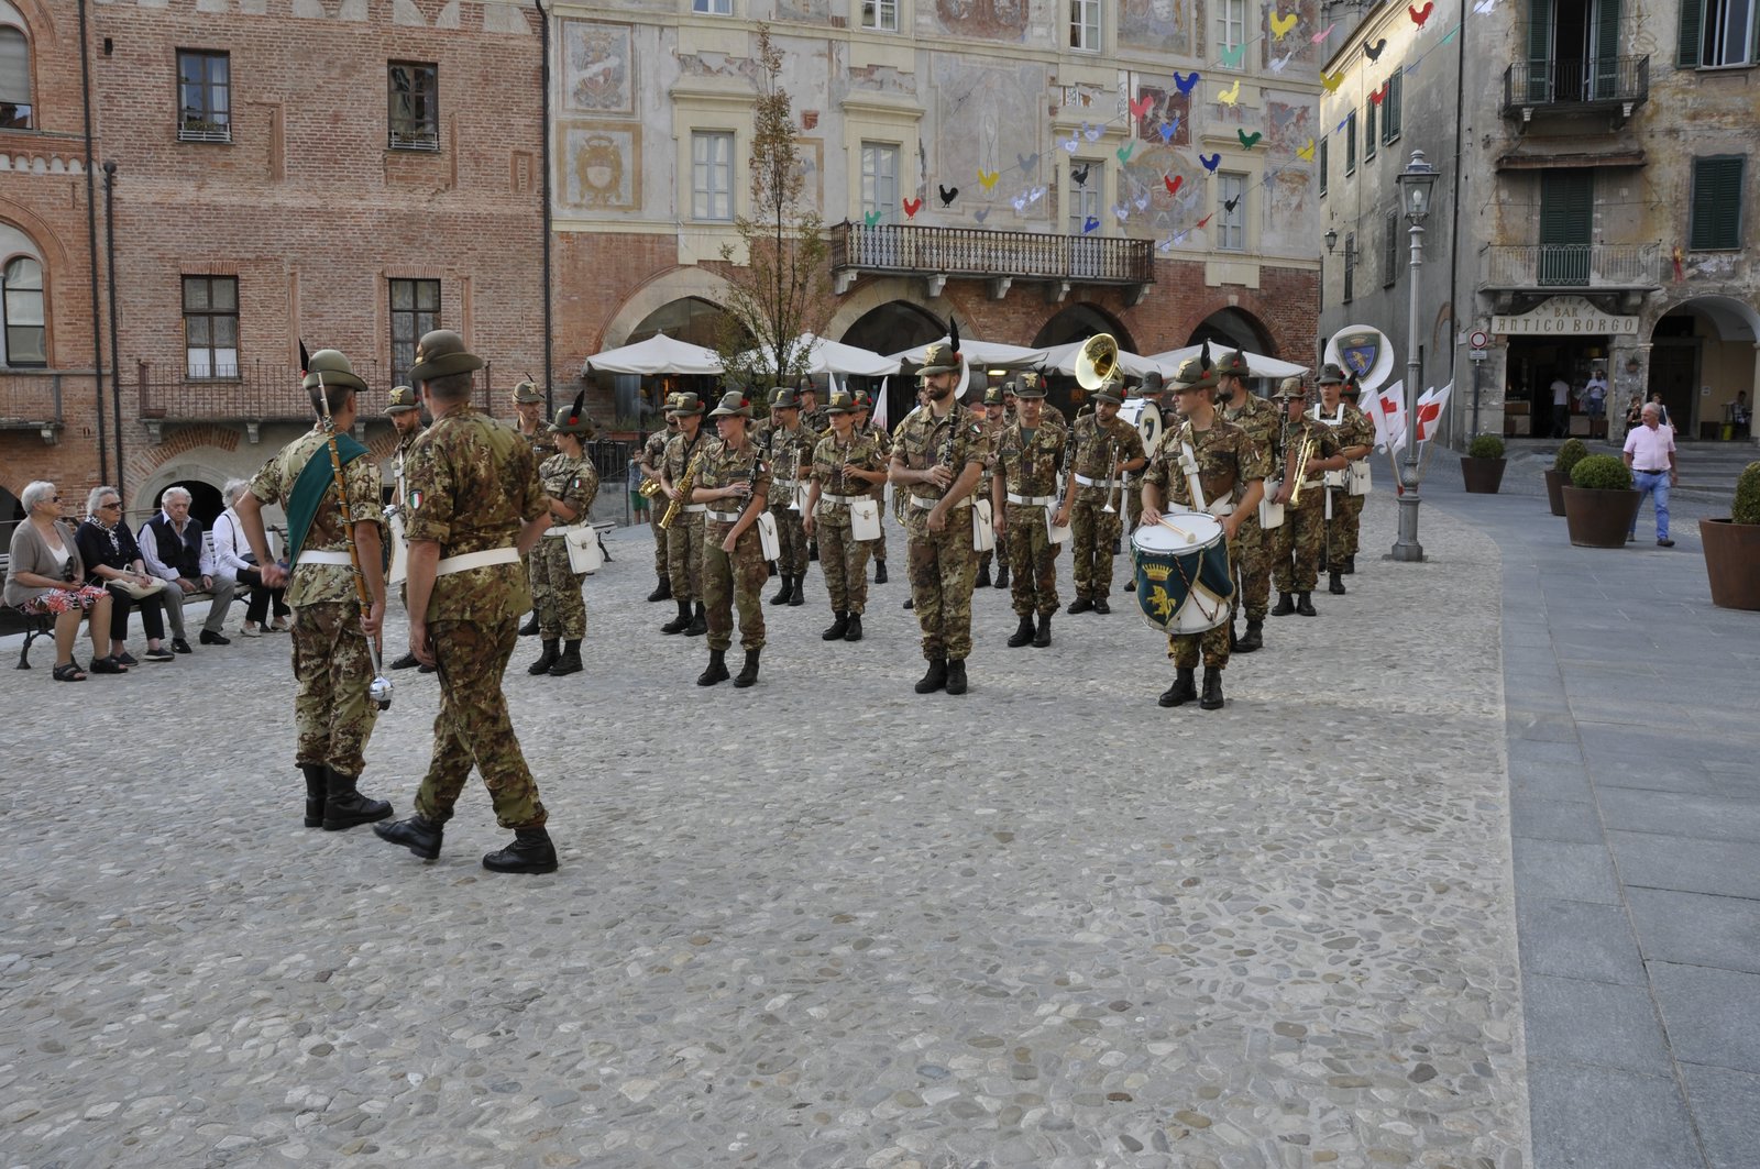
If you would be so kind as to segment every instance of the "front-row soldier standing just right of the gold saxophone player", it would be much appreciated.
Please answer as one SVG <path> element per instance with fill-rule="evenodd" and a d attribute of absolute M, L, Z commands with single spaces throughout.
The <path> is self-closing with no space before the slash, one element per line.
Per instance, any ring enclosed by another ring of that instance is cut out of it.
<path fill-rule="evenodd" d="M 720 435 L 702 452 L 692 500 L 708 505 L 702 526 L 702 599 L 709 611 L 709 667 L 697 676 L 699 687 L 727 681 L 727 648 L 734 643 L 734 609 L 739 609 L 739 646 L 746 664 L 734 678 L 736 687 L 759 680 L 764 653 L 764 549 L 757 521 L 771 488 L 771 468 L 764 451 L 752 442 L 752 401 L 737 389 L 722 394 L 709 414 Z"/>

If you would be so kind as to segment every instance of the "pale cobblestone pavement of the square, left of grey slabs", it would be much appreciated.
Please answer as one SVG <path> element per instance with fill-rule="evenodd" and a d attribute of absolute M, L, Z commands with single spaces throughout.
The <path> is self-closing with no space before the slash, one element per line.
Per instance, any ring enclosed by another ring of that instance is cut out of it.
<path fill-rule="evenodd" d="M 982 590 L 972 694 L 912 694 L 896 532 L 866 641 L 815 567 L 759 687 L 700 690 L 620 532 L 590 673 L 507 678 L 553 877 L 479 866 L 480 787 L 433 864 L 303 829 L 283 637 L 83 685 L 39 644 L 0 1164 L 1526 1165 L 1498 553 L 1424 525 L 1214 713 L 1155 704 L 1128 595 L 1008 650 Z M 407 815 L 436 683 L 396 678 L 363 787 Z"/>

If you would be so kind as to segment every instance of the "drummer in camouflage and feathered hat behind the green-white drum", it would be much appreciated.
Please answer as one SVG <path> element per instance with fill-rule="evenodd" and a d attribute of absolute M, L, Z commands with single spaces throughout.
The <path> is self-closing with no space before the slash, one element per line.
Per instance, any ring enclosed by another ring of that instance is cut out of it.
<path fill-rule="evenodd" d="M 1216 414 L 1216 371 L 1211 368 L 1209 345 L 1200 357 L 1181 363 L 1172 391 L 1184 421 L 1162 431 L 1162 442 L 1142 472 L 1142 523 L 1160 523 L 1169 504 L 1174 511 L 1207 511 L 1221 521 L 1232 562 L 1241 521 L 1257 514 L 1265 493 L 1269 452 L 1253 445 L 1244 430 Z M 1204 496 L 1202 505 L 1192 498 L 1192 481 L 1197 481 Z M 1193 676 L 1200 655 L 1204 695 L 1199 706 L 1221 708 L 1221 671 L 1228 665 L 1227 620 L 1202 634 L 1169 636 L 1167 657 L 1174 658 L 1174 685 L 1158 699 L 1162 706 L 1183 706 L 1199 697 Z"/>

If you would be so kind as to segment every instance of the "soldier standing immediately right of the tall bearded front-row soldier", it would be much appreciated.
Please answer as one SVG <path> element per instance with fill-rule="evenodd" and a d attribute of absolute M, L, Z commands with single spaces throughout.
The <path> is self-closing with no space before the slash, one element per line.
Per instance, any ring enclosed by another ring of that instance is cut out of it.
<path fill-rule="evenodd" d="M 1058 502 L 1058 470 L 1067 444 L 1065 431 L 1044 421 L 1044 386 L 1017 386 L 1016 401 L 1019 417 L 1001 431 L 991 454 L 991 514 L 996 542 L 1007 548 L 1014 569 L 1010 599 L 1021 620 L 1008 644 L 1044 650 L 1051 644 L 1051 614 L 1058 611 L 1058 546 L 1051 542 L 1045 516 Z M 989 394 L 984 403 L 991 407 Z M 991 408 L 1000 405 L 1001 394 L 996 394 Z"/>

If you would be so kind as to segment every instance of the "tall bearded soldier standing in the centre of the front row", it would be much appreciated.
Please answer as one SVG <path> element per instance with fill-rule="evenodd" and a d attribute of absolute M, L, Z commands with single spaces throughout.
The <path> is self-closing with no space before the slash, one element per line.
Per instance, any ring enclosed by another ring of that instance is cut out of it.
<path fill-rule="evenodd" d="M 972 653 L 972 491 L 984 470 L 984 430 L 954 400 L 963 359 L 936 342 L 924 354 L 928 405 L 915 410 L 892 442 L 889 477 L 908 491 L 905 530 L 910 533 L 910 597 L 922 629 L 928 673 L 917 694 L 966 692 Z"/>

